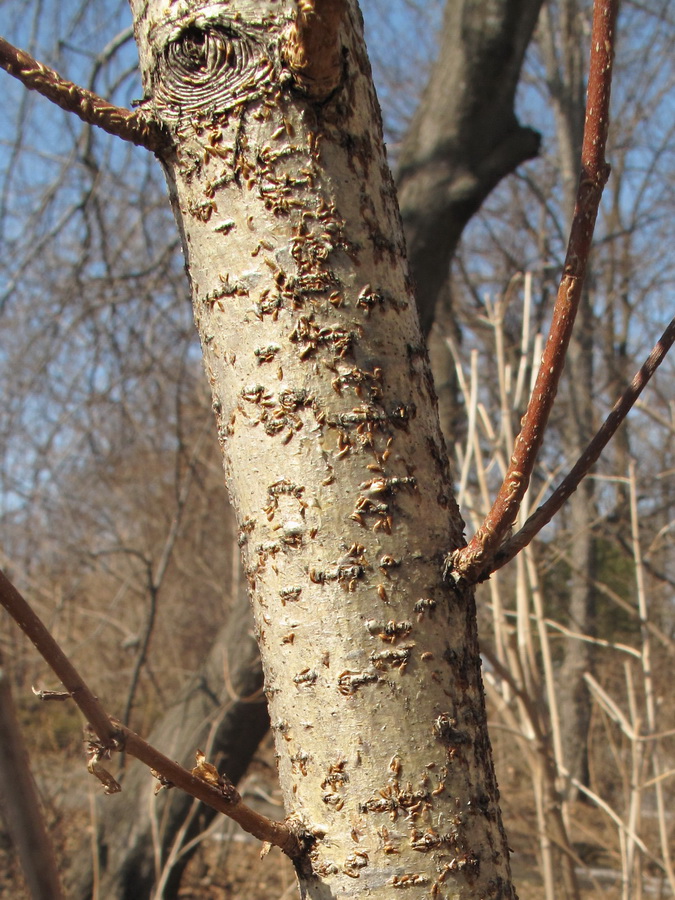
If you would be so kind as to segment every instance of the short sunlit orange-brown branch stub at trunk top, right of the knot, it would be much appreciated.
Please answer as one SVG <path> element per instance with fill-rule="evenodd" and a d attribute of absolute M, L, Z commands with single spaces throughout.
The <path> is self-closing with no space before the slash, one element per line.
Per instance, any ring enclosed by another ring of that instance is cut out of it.
<path fill-rule="evenodd" d="M 331 94 L 342 77 L 340 25 L 344 0 L 297 0 L 284 57 L 299 86 L 315 100 Z"/>

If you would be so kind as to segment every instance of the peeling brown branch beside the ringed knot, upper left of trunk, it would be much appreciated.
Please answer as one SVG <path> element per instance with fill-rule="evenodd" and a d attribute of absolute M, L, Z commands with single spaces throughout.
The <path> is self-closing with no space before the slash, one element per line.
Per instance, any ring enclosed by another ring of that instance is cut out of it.
<path fill-rule="evenodd" d="M 0 67 L 31 91 L 37 91 L 52 103 L 75 113 L 89 125 L 96 125 L 139 147 L 159 152 L 167 138 L 158 125 L 131 110 L 108 103 L 102 97 L 61 78 L 58 72 L 14 47 L 0 37 Z"/>

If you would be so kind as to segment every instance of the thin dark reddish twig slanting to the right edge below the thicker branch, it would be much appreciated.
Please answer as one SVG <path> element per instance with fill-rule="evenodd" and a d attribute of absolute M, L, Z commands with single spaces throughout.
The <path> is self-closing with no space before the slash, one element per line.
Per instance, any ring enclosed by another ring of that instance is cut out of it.
<path fill-rule="evenodd" d="M 598 461 L 600 454 L 616 433 L 619 425 L 626 418 L 638 397 L 645 389 L 652 375 L 663 362 L 666 353 L 675 343 L 675 319 L 673 319 L 661 335 L 659 341 L 649 354 L 640 370 L 635 374 L 630 385 L 612 407 L 605 421 L 597 433 L 587 445 L 584 452 L 560 482 L 555 491 L 545 503 L 535 510 L 525 522 L 520 531 L 507 540 L 499 548 L 492 562 L 478 577 L 478 581 L 487 578 L 492 572 L 517 556 L 518 553 L 532 541 L 558 512 L 565 501 L 576 491 L 583 478 L 586 477 L 592 466 Z"/>

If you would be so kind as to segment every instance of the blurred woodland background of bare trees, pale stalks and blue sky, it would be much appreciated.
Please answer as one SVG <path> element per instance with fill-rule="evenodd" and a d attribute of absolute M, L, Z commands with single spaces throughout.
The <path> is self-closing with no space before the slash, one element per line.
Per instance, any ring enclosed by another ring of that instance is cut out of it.
<path fill-rule="evenodd" d="M 362 0 L 394 171 L 443 6 Z M 124 2 L 4 0 L 0 17 L 9 40 L 67 77 L 122 106 L 140 96 Z M 436 307 L 430 350 L 469 531 L 505 471 L 548 325 L 576 187 L 589 21 L 585 0 L 546 5 L 517 102 L 520 121 L 542 134 L 540 154 L 471 220 Z M 530 508 L 671 316 L 675 10 L 625 0 L 619 34 L 612 176 Z M 2 87 L 0 564 L 108 708 L 148 734 L 244 590 L 178 235 L 149 154 L 9 78 Z M 667 359 L 555 524 L 479 590 L 524 898 L 675 894 L 674 369 Z M 56 685 L 4 617 L 0 650 L 65 868 L 90 853 L 101 814 L 79 714 L 32 695 L 31 685 Z M 226 657 L 220 674 L 227 694 Z M 278 804 L 269 743 L 241 789 Z M 260 863 L 228 821 L 194 846 L 179 896 L 294 895 L 290 866 L 276 853 Z M 157 900 L 176 896 L 167 885 L 181 852 L 178 843 L 157 861 Z M 560 881 L 565 858 L 576 889 Z M 0 829 L 0 896 L 22 890 Z"/>

